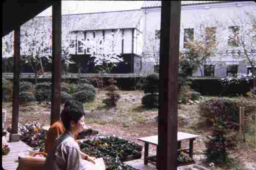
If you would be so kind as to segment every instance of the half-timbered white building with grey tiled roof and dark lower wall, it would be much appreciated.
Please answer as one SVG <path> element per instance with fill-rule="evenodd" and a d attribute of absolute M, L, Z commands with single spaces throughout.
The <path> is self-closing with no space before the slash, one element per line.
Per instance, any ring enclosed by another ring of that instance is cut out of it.
<path fill-rule="evenodd" d="M 90 45 L 83 44 L 84 40 L 92 37 L 108 39 L 112 33 L 119 30 L 115 49 L 125 61 L 115 72 L 138 74 L 142 68 L 142 15 L 141 10 L 64 15 L 64 23 L 71 23 L 67 26 L 71 26 L 70 30 L 75 33 L 72 35 L 74 41 L 70 54 L 73 58 L 88 58 L 91 54 Z M 85 65 L 84 68 L 86 67 Z"/>

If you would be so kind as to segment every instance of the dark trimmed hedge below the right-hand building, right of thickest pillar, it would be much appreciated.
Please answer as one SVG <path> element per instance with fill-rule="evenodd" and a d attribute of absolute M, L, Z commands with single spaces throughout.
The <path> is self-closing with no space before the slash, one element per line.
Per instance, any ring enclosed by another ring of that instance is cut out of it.
<path fill-rule="evenodd" d="M 189 80 L 192 82 L 191 88 L 202 95 L 219 95 L 225 90 L 221 85 L 220 78 L 193 78 L 190 77 Z M 230 94 L 242 94 L 245 95 L 253 86 L 253 79 L 249 80 L 249 83 L 242 81 L 239 84 L 232 85 L 227 88 L 222 95 Z"/>

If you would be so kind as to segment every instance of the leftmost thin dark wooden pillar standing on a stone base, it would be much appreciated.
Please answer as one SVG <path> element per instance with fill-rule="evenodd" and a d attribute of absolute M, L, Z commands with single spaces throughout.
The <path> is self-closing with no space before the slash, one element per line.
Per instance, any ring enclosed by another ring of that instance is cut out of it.
<path fill-rule="evenodd" d="M 18 134 L 19 123 L 19 82 L 20 82 L 20 26 L 14 30 L 14 70 L 13 70 L 13 101 L 12 101 L 12 134 L 10 135 L 10 142 L 17 142 L 20 140 Z"/>

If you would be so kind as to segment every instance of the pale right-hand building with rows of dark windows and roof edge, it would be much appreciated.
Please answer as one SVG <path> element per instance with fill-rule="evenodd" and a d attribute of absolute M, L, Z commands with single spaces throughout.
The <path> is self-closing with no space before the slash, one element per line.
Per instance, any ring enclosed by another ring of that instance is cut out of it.
<path fill-rule="evenodd" d="M 242 59 L 234 59 L 233 53 L 239 50 L 243 52 L 241 47 L 230 47 L 228 45 L 229 29 L 236 28 L 231 20 L 232 17 L 239 16 L 243 20 L 244 11 L 250 9 L 256 16 L 256 3 L 253 1 L 181 1 L 181 17 L 180 17 L 180 51 L 184 50 L 184 31 L 190 32 L 193 40 L 197 40 L 200 33 L 200 24 L 206 24 L 205 27 L 214 28 L 215 38 L 222 40 L 218 45 L 222 48 L 224 54 L 221 58 L 216 57 L 211 61 L 207 61 L 202 71 L 204 76 L 225 77 L 229 73 L 248 74 L 251 70 L 249 64 L 243 62 Z M 147 45 L 147 36 L 149 34 L 158 33 L 160 30 L 161 20 L 161 1 L 145 1 L 141 10 L 143 11 L 143 45 Z M 217 22 L 216 22 L 217 21 Z M 218 26 L 218 21 L 224 23 L 223 27 Z M 253 24 L 253 23 L 252 23 Z M 204 28 L 205 28 L 204 27 Z M 238 26 L 239 27 L 239 26 Z M 241 29 L 239 35 L 241 35 Z M 255 47 L 255 46 L 254 46 Z M 256 50 L 254 48 L 254 50 Z M 255 51 L 253 52 L 255 55 Z M 222 65 L 215 65 L 221 61 Z M 227 68 L 227 65 L 232 67 Z M 208 68 L 208 69 L 207 69 Z M 210 69 L 209 69 L 210 68 Z M 231 68 L 231 69 L 230 69 Z M 193 76 L 201 76 L 201 71 L 195 72 Z"/>

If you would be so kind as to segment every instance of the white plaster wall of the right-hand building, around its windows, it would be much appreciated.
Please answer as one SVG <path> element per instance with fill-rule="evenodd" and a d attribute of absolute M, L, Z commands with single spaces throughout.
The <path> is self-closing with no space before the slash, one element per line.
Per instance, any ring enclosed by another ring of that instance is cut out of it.
<path fill-rule="evenodd" d="M 183 39 L 184 39 L 184 28 L 194 28 L 194 40 L 198 40 L 198 34 L 200 33 L 199 24 L 202 20 L 207 23 L 207 27 L 216 27 L 216 38 L 220 40 L 218 44 L 219 49 L 223 50 L 241 50 L 241 47 L 230 48 L 227 46 L 228 41 L 228 26 L 233 26 L 231 21 L 232 16 L 238 15 L 239 17 L 244 17 L 244 11 L 247 9 L 256 9 L 256 3 L 254 2 L 232 2 L 232 3 L 219 3 L 219 4 L 203 4 L 203 5 L 193 5 L 193 6 L 182 6 L 181 7 L 181 16 L 180 16 L 180 51 L 183 50 Z M 142 9 L 144 11 L 143 21 L 145 22 L 143 26 L 143 42 L 146 42 L 146 37 L 151 31 L 160 30 L 160 21 L 161 21 L 161 10 L 160 8 L 148 8 Z M 256 12 L 254 10 L 253 12 Z M 225 24 L 224 29 L 216 24 L 216 20 L 221 21 Z M 203 31 L 204 32 L 204 31 Z M 223 61 L 232 62 L 238 61 L 241 62 L 241 59 L 234 59 L 230 54 L 224 55 L 224 57 L 213 59 L 213 61 Z M 242 67 L 241 64 L 240 68 Z M 217 69 L 218 67 L 216 67 Z M 216 71 L 215 69 L 215 71 Z M 221 69 L 221 68 L 219 68 Z M 240 69 L 239 69 L 240 70 Z M 221 71 L 215 72 L 215 76 L 223 76 L 224 73 Z M 195 76 L 201 76 L 200 71 L 198 70 Z"/>

